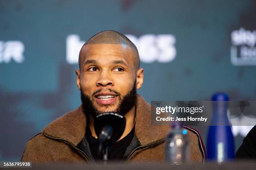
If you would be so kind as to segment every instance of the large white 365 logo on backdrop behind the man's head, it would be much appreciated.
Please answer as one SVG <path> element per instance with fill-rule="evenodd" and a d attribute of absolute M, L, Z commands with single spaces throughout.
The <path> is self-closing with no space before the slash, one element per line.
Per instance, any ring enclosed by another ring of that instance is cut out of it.
<path fill-rule="evenodd" d="M 127 36 L 138 48 L 141 62 L 171 62 L 176 57 L 176 38 L 171 34 L 146 34 L 141 37 Z M 79 35 L 68 35 L 66 39 L 66 60 L 69 64 L 78 63 L 79 51 L 85 41 Z"/>

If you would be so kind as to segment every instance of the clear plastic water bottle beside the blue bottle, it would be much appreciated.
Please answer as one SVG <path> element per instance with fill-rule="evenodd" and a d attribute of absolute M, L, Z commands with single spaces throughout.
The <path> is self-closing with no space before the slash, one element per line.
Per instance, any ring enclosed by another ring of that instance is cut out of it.
<path fill-rule="evenodd" d="M 171 164 L 188 163 L 190 160 L 189 137 L 181 126 L 173 126 L 166 137 L 165 160 Z"/>

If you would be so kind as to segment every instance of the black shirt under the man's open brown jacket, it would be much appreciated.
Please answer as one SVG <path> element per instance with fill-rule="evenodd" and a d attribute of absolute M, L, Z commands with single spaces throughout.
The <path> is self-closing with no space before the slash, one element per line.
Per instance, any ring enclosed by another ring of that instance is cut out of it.
<path fill-rule="evenodd" d="M 134 136 L 134 127 L 128 135 L 126 135 L 123 139 L 115 142 L 109 149 L 108 149 L 108 160 L 124 160 L 123 156 L 125 154 L 126 148 L 131 144 Z M 92 136 L 91 130 L 89 126 L 86 128 L 86 133 L 84 138 L 89 143 L 90 151 L 92 157 L 95 160 L 100 160 L 100 156 L 98 155 L 99 150 L 99 139 Z"/>

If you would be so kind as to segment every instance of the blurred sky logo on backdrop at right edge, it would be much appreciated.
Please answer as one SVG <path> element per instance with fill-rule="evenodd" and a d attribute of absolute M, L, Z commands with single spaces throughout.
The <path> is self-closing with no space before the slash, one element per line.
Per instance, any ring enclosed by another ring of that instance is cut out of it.
<path fill-rule="evenodd" d="M 256 30 L 240 28 L 231 33 L 230 60 L 233 65 L 256 65 Z"/>

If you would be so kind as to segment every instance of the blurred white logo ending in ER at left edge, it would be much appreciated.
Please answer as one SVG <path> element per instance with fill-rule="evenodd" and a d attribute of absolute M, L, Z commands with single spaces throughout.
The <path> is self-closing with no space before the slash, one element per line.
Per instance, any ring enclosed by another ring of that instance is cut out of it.
<path fill-rule="evenodd" d="M 17 63 L 24 61 L 24 44 L 21 41 L 0 41 L 0 63 Z"/>

